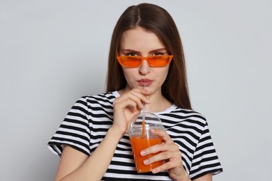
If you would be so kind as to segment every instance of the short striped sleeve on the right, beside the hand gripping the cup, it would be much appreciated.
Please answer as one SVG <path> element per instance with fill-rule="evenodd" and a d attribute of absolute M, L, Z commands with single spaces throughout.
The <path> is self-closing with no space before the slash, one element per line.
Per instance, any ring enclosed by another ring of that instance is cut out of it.
<path fill-rule="evenodd" d="M 195 180 L 206 173 L 216 175 L 221 172 L 222 166 L 211 140 L 208 123 L 206 123 L 192 158 L 190 178 Z"/>

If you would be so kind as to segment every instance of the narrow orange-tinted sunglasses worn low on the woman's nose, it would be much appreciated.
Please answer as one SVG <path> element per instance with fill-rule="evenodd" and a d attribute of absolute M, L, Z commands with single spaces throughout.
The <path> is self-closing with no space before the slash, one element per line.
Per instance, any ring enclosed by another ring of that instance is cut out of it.
<path fill-rule="evenodd" d="M 156 55 L 156 56 L 119 56 L 117 53 L 117 60 L 123 67 L 137 68 L 142 65 L 142 61 L 146 60 L 150 67 L 163 67 L 169 65 L 172 61 L 172 55 Z"/>

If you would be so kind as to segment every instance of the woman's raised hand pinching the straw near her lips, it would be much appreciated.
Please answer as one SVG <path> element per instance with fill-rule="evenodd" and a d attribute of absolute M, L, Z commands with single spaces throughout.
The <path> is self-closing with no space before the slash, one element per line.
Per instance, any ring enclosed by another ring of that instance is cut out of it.
<path fill-rule="evenodd" d="M 120 136 L 126 133 L 128 126 L 133 123 L 139 112 L 144 107 L 143 104 L 150 104 L 148 99 L 149 91 L 134 88 L 114 100 L 114 129 Z"/>

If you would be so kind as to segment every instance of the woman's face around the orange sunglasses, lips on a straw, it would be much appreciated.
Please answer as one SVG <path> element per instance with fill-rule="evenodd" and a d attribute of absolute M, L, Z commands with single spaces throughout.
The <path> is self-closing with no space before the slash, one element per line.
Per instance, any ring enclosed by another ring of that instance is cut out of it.
<path fill-rule="evenodd" d="M 165 45 L 160 42 L 158 36 L 151 31 L 146 31 L 141 27 L 124 31 L 121 36 L 119 56 L 151 56 L 167 55 Z M 145 88 L 151 94 L 161 94 L 161 87 L 167 77 L 169 65 L 163 67 L 149 67 L 144 60 L 137 68 L 123 68 L 126 77 L 126 88 Z"/>

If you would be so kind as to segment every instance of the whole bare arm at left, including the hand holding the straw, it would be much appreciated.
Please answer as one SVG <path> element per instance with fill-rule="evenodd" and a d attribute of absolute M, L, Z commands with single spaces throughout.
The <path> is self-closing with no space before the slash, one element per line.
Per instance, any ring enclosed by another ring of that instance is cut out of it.
<path fill-rule="evenodd" d="M 116 98 L 113 104 L 114 121 L 103 141 L 90 157 L 65 146 L 55 180 L 101 180 L 128 125 L 136 120 L 143 104 L 150 103 L 146 98 L 149 94 L 144 89 L 133 89 Z"/>

